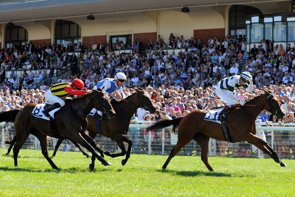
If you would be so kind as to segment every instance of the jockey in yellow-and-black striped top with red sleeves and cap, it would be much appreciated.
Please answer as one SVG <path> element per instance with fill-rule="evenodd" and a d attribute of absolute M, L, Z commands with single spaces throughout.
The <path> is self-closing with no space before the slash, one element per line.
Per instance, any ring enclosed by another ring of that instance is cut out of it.
<path fill-rule="evenodd" d="M 49 112 L 65 105 L 63 99 L 73 95 L 84 95 L 87 93 L 84 89 L 84 83 L 81 79 L 74 79 L 71 83 L 54 84 L 44 95 L 46 102 L 49 105 L 44 107 L 43 114 L 49 117 Z"/>

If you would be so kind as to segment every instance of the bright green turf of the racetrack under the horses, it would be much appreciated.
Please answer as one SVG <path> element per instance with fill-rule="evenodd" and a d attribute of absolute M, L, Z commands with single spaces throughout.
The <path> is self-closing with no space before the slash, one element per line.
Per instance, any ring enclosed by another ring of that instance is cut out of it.
<path fill-rule="evenodd" d="M 176 156 L 167 170 L 167 155 L 131 155 L 125 166 L 109 158 L 111 166 L 79 152 L 61 152 L 53 170 L 40 150 L 22 149 L 18 167 L 0 149 L 0 197 L 294 197 L 295 160 L 281 167 L 271 159 L 211 157 L 209 172 L 199 156 Z M 12 153 L 11 153 L 12 154 Z M 52 154 L 52 151 L 50 151 Z"/>

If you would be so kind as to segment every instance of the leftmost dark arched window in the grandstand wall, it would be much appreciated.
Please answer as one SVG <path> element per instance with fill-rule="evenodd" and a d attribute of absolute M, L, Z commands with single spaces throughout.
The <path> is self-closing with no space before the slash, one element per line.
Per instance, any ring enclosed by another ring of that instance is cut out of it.
<path fill-rule="evenodd" d="M 20 26 L 9 23 L 5 30 L 5 46 L 21 48 L 28 43 L 28 31 Z"/>

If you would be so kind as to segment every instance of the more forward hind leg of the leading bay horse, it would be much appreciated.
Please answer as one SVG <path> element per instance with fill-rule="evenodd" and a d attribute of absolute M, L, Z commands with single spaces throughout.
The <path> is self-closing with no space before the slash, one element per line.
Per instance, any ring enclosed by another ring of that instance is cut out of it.
<path fill-rule="evenodd" d="M 213 171 L 212 167 L 208 163 L 208 151 L 209 151 L 209 137 L 202 134 L 198 133 L 195 137 L 194 140 L 200 145 L 201 147 L 201 160 L 202 162 L 206 165 L 208 170 Z"/>

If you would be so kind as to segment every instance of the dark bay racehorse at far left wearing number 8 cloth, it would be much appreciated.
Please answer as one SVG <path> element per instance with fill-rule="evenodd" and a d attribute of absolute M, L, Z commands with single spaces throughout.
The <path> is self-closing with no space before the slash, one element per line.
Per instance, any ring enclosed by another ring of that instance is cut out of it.
<path fill-rule="evenodd" d="M 115 116 L 115 111 L 108 100 L 108 96 L 102 89 L 90 90 L 84 97 L 76 99 L 66 99 L 66 104 L 55 115 L 60 139 L 69 139 L 72 142 L 84 146 L 92 155 L 102 164 L 110 163 L 100 157 L 95 149 L 88 143 L 93 140 L 86 132 L 88 122 L 86 120 L 90 110 L 95 107 L 103 112 L 103 117 L 111 119 Z M 41 145 L 42 154 L 54 169 L 58 167 L 53 163 L 48 155 L 47 135 L 54 136 L 48 120 L 36 118 L 31 115 L 36 103 L 29 103 L 21 110 L 11 110 L 0 113 L 0 122 L 14 122 L 16 137 L 13 148 L 14 165 L 17 166 L 17 157 L 19 150 L 29 136 L 29 133 L 35 135 Z M 13 144 L 12 144 L 13 145 Z"/>

